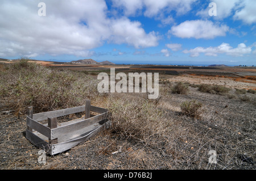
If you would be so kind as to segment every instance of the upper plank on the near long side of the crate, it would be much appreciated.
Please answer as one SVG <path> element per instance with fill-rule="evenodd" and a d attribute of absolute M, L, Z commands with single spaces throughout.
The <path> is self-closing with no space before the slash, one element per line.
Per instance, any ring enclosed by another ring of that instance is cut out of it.
<path fill-rule="evenodd" d="M 94 123 L 97 123 L 98 121 L 104 120 L 108 118 L 108 112 L 101 113 L 100 115 L 90 117 L 85 120 L 78 121 L 76 123 L 64 125 L 62 127 L 53 128 L 51 130 L 51 139 L 61 137 L 64 134 L 75 132 L 79 129 L 88 127 L 89 125 L 92 125 Z"/>

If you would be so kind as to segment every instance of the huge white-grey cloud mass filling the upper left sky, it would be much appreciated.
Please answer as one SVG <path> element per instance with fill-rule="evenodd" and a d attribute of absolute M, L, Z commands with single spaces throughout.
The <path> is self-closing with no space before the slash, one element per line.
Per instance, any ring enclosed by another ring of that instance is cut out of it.
<path fill-rule="evenodd" d="M 34 57 L 72 54 L 87 57 L 105 42 L 135 48 L 158 45 L 155 32 L 146 33 L 140 22 L 108 18 L 104 0 L 45 0 L 46 16 L 39 16 L 38 1 L 1 1 L 0 56 Z"/>

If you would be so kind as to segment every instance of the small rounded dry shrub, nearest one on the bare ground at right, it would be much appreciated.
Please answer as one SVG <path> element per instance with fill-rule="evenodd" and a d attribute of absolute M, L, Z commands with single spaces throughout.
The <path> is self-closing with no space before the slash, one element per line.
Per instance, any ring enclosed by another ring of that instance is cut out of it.
<path fill-rule="evenodd" d="M 180 104 L 181 112 L 189 117 L 199 118 L 200 108 L 202 103 L 197 102 L 197 100 L 185 101 Z"/>

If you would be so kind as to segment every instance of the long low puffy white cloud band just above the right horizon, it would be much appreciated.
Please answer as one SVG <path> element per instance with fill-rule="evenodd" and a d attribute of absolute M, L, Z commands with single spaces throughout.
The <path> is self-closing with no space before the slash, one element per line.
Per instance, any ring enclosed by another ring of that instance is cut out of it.
<path fill-rule="evenodd" d="M 218 47 L 196 47 L 190 50 L 183 50 L 183 53 L 190 53 L 191 57 L 198 57 L 200 53 L 204 53 L 205 56 L 218 56 L 218 54 L 228 54 L 234 57 L 242 57 L 244 54 L 251 53 L 251 47 L 246 47 L 244 43 L 238 44 L 237 48 L 231 47 L 228 43 L 222 43 Z"/>

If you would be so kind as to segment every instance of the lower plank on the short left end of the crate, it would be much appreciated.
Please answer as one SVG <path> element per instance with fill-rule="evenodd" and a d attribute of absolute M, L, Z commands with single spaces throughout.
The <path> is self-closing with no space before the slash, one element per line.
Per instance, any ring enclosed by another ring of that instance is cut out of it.
<path fill-rule="evenodd" d="M 51 153 L 51 146 L 48 144 L 48 142 L 44 141 L 39 136 L 36 136 L 34 133 L 26 130 L 26 138 L 32 142 L 35 146 L 38 146 L 39 148 L 44 149 L 46 152 Z"/>

